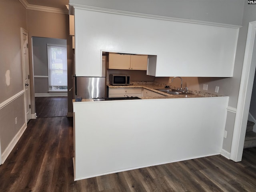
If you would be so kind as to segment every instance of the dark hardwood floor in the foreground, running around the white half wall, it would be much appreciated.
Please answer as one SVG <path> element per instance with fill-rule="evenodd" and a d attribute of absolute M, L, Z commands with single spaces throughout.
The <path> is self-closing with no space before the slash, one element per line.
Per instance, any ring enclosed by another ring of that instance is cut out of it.
<path fill-rule="evenodd" d="M 245 149 L 237 163 L 216 155 L 79 181 L 73 152 L 72 118 L 30 120 L 0 166 L 0 192 L 256 191 L 256 148 Z"/>

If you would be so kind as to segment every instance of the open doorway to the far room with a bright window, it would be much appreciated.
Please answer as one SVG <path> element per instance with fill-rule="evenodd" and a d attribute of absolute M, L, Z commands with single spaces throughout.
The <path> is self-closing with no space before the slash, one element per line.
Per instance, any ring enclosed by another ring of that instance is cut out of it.
<path fill-rule="evenodd" d="M 52 56 L 49 57 L 50 46 L 52 48 L 58 46 L 60 47 L 60 50 L 54 50 Z M 66 84 L 60 84 L 60 86 L 51 84 L 51 82 L 54 82 L 51 77 L 63 76 L 63 73 L 67 79 L 67 66 L 63 67 L 61 64 L 63 55 L 58 55 L 60 52 L 66 51 L 66 46 L 66 39 L 32 37 L 35 112 L 38 117 L 66 116 L 67 114 L 67 81 Z M 67 53 L 64 54 L 64 57 L 64 59 L 67 59 Z M 51 64 L 54 67 L 58 66 L 58 68 L 50 68 L 48 58 L 50 58 Z M 51 75 L 52 73 L 55 74 Z M 54 89 L 52 89 L 53 86 Z M 64 89 L 65 87 L 66 89 Z"/>

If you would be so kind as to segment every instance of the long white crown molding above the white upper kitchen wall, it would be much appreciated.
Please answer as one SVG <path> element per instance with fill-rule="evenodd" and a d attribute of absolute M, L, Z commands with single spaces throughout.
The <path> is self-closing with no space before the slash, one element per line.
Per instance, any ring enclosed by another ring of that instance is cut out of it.
<path fill-rule="evenodd" d="M 117 15 L 134 16 L 134 17 L 141 17 L 141 18 L 151 18 L 151 19 L 158 19 L 158 20 L 167 20 L 167 21 L 175 21 L 175 22 L 218 26 L 218 27 L 226 27 L 226 28 L 238 29 L 238 28 L 242 27 L 239 25 L 231 25 L 231 24 L 207 22 L 207 21 L 199 21 L 199 20 L 190 20 L 190 19 L 182 19 L 182 18 L 173 18 L 173 17 L 168 17 L 168 16 L 158 16 L 158 15 L 152 15 L 152 14 L 113 10 L 113 9 L 107 9 L 107 8 L 99 8 L 99 7 L 92 7 L 92 6 L 70 3 L 69 4 L 69 13 L 71 15 L 74 15 L 74 9 L 81 9 L 81 10 L 88 10 L 88 11 L 95 11 L 95 12 L 102 12 L 102 13 L 109 13 L 109 14 L 117 14 Z"/>

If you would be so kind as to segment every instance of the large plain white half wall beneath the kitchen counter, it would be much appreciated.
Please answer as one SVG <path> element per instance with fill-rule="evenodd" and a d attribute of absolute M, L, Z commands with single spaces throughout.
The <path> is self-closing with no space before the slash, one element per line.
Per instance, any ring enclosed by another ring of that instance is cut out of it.
<path fill-rule="evenodd" d="M 226 96 L 87 100 L 73 105 L 75 180 L 222 150 Z"/>

